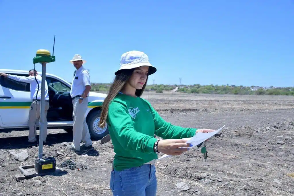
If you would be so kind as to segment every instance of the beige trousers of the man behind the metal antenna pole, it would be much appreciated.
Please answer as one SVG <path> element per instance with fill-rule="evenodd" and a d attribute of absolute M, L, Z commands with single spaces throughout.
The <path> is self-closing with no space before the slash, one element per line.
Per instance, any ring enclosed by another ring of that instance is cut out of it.
<path fill-rule="evenodd" d="M 49 102 L 45 102 L 45 122 L 47 123 L 47 112 L 49 109 Z M 40 120 L 41 102 L 32 102 L 31 109 L 29 111 L 29 142 L 35 142 L 37 136 L 37 125 Z M 47 127 L 45 129 L 43 141 L 46 142 L 47 137 Z"/>

